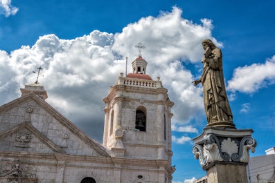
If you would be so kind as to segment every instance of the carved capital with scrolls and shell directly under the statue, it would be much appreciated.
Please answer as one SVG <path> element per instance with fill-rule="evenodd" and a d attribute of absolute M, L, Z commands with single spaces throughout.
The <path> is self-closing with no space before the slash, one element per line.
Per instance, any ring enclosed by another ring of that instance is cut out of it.
<path fill-rule="evenodd" d="M 251 130 L 214 129 L 205 128 L 202 135 L 193 139 L 193 153 L 202 168 L 206 169 L 215 162 L 249 162 L 249 149 L 254 153 L 256 146 Z"/>

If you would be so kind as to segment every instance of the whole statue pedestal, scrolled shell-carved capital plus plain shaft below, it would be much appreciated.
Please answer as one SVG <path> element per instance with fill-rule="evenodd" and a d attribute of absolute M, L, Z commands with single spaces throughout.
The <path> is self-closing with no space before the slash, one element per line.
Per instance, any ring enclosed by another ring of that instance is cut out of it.
<path fill-rule="evenodd" d="M 207 182 L 247 183 L 249 149 L 254 152 L 253 130 L 206 127 L 193 139 L 193 153 L 207 173 Z"/>

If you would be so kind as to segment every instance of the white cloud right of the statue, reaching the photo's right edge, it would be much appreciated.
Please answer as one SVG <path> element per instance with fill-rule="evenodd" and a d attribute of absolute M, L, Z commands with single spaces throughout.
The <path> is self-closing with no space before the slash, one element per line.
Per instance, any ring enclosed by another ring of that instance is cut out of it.
<path fill-rule="evenodd" d="M 234 70 L 233 78 L 228 81 L 228 89 L 242 93 L 254 93 L 260 88 L 274 84 L 275 56 L 267 59 L 265 64 L 252 64 L 238 67 Z"/>

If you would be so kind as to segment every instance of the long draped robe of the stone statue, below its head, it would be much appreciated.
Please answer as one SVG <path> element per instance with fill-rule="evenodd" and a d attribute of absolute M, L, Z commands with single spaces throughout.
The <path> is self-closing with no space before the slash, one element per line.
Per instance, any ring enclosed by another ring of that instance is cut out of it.
<path fill-rule="evenodd" d="M 233 118 L 222 73 L 222 52 L 219 48 L 214 48 L 212 53 L 210 58 L 204 59 L 201 78 L 208 126 L 217 122 L 230 123 Z"/>

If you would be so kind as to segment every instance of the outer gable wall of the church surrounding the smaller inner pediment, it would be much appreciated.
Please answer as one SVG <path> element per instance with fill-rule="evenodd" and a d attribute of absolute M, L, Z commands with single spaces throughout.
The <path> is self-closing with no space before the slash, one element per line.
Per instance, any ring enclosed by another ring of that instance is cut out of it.
<path fill-rule="evenodd" d="M 44 140 L 44 144 L 51 147 L 55 152 L 66 151 L 65 153 L 75 155 L 110 156 L 102 144 L 91 139 L 76 124 L 73 124 L 35 93 L 28 93 L 0 106 L 0 124 L 6 127 L 6 129 L 0 128 L 0 139 L 8 131 L 18 130 L 18 126 L 21 125 L 22 127 L 25 124 L 26 127 L 24 128 L 37 134 L 36 137 Z M 45 130 L 44 127 L 47 129 Z M 51 130 L 51 134 L 48 134 L 48 129 Z M 66 139 L 66 135 L 69 135 L 69 139 Z M 61 142 L 62 140 L 63 142 L 71 141 L 71 146 L 69 143 L 66 146 L 66 143 Z M 80 143 L 85 151 L 81 151 L 76 143 Z"/>

